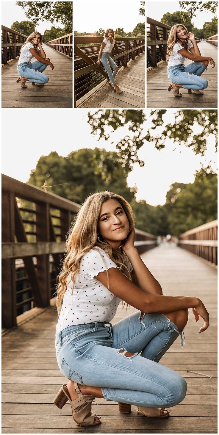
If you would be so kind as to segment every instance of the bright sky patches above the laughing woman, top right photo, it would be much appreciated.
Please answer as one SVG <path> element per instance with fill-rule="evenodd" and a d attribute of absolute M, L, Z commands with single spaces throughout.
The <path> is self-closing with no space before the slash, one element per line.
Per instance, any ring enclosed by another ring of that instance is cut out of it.
<path fill-rule="evenodd" d="M 185 10 L 179 6 L 176 1 L 147 1 L 147 17 L 160 21 L 163 14 L 166 12 L 176 12 L 177 10 Z M 192 18 L 192 23 L 197 29 L 202 29 L 205 22 L 211 22 L 213 14 L 209 11 L 199 12 L 197 10 L 196 17 Z"/>

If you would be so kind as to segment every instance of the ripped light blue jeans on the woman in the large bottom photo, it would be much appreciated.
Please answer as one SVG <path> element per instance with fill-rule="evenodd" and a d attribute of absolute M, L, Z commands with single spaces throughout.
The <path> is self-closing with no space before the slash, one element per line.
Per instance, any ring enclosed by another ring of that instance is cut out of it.
<path fill-rule="evenodd" d="M 114 326 L 93 322 L 58 332 L 61 373 L 79 384 L 101 387 L 108 401 L 151 408 L 177 405 L 186 394 L 185 379 L 158 361 L 179 330 L 165 315 L 145 314 L 142 320 L 140 315 L 136 312 Z M 126 351 L 134 355 L 125 357 Z"/>

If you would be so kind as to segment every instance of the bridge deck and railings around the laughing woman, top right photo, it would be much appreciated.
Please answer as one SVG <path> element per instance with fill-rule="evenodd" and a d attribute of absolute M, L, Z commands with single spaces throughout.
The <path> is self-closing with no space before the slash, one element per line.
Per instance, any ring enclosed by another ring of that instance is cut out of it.
<path fill-rule="evenodd" d="M 197 40 L 202 56 L 210 56 L 215 61 L 212 69 L 202 76 L 209 82 L 204 95 L 188 94 L 180 89 L 182 97 L 177 100 L 172 91 L 168 92 L 169 79 L 165 61 L 166 42 L 170 26 L 147 17 L 147 107 L 217 107 L 217 35 L 207 41 Z M 212 39 L 213 38 L 213 39 Z M 186 60 L 185 64 L 191 60 Z"/>

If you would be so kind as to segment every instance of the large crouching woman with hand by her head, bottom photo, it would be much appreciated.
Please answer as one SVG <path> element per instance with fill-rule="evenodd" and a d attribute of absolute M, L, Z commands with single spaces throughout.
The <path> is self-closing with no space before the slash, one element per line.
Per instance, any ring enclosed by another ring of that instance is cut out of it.
<path fill-rule="evenodd" d="M 91 413 L 95 397 L 119 402 L 121 412 L 137 405 L 147 417 L 168 417 L 165 408 L 183 400 L 187 384 L 158 361 L 179 333 L 182 339 L 188 308 L 196 321 L 204 319 L 199 333 L 209 326 L 199 298 L 162 295 L 134 241 L 131 206 L 108 191 L 87 198 L 68 235 L 57 288 L 56 356 L 69 382 L 54 404 L 62 408 L 69 400 L 78 425 L 101 422 Z M 121 300 L 139 311 L 112 326 Z"/>

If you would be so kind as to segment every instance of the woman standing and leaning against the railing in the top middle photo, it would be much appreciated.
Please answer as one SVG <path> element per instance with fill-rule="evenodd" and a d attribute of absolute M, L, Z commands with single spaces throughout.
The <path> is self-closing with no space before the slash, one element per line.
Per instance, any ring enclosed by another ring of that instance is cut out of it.
<path fill-rule="evenodd" d="M 123 91 L 117 86 L 115 82 L 115 76 L 118 73 L 118 66 L 110 56 L 111 50 L 113 49 L 114 45 L 115 45 L 114 30 L 107 29 L 104 34 L 104 40 L 101 43 L 101 49 L 99 52 L 97 63 L 98 65 L 100 65 L 102 62 L 110 80 L 109 85 L 114 88 L 114 92 L 118 92 L 118 94 L 121 94 Z M 113 73 L 111 67 L 113 69 Z"/>

